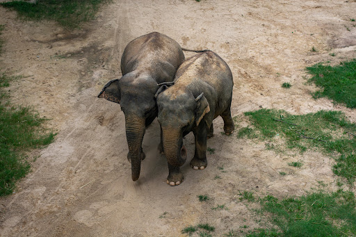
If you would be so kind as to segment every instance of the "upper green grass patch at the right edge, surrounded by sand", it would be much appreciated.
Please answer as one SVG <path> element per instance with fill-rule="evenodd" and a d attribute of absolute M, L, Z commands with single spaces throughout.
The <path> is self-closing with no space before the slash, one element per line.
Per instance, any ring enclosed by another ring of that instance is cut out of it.
<path fill-rule="evenodd" d="M 318 88 L 314 98 L 327 97 L 336 103 L 345 104 L 348 108 L 356 108 L 356 59 L 342 62 L 337 66 L 317 64 L 307 67 L 313 77 L 309 82 Z"/>

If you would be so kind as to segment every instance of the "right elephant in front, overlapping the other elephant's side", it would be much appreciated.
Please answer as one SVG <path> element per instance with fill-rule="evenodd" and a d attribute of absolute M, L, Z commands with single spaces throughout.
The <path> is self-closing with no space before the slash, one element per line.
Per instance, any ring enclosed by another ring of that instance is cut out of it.
<path fill-rule="evenodd" d="M 168 160 L 170 186 L 183 181 L 179 167 L 186 161 L 183 138 L 193 131 L 194 170 L 207 167 L 207 137 L 213 136 L 213 120 L 224 120 L 224 131 L 234 131 L 230 106 L 234 85 L 229 66 L 212 51 L 188 58 L 177 70 L 175 85 L 162 85 L 156 93 L 163 148 Z"/>

